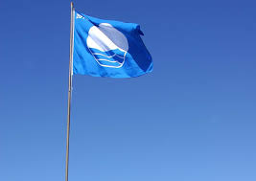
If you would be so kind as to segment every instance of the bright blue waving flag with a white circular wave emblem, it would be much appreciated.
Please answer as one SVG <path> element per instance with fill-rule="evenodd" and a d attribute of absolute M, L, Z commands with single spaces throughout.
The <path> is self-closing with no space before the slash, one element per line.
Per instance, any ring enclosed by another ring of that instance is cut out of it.
<path fill-rule="evenodd" d="M 73 74 L 132 78 L 152 71 L 140 26 L 75 12 Z"/>

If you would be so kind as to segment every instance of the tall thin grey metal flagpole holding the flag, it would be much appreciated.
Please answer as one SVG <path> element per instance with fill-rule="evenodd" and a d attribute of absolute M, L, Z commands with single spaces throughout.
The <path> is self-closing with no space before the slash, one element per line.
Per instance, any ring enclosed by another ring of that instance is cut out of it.
<path fill-rule="evenodd" d="M 69 78 L 68 78 L 68 104 L 67 104 L 67 140 L 66 140 L 66 170 L 65 181 L 68 181 L 68 159 L 69 159 L 69 132 L 70 132 L 70 108 L 72 93 L 73 76 L 73 47 L 74 47 L 74 4 L 71 2 L 71 21 L 70 21 L 70 52 L 69 52 Z"/>

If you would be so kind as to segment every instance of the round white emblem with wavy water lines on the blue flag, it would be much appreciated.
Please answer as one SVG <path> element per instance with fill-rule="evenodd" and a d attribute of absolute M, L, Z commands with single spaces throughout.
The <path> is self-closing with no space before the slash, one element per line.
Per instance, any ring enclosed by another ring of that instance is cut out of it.
<path fill-rule="evenodd" d="M 128 39 L 108 23 L 92 26 L 86 39 L 91 55 L 103 67 L 120 68 L 126 61 Z"/>

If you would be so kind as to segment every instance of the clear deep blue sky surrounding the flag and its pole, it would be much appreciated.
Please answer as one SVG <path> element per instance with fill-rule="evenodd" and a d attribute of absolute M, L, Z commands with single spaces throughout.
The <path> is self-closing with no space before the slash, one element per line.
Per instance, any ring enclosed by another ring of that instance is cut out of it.
<path fill-rule="evenodd" d="M 70 181 L 255 181 L 256 3 L 77 0 L 141 25 L 137 79 L 74 77 Z M 63 181 L 70 1 L 1 1 L 0 180 Z"/>

